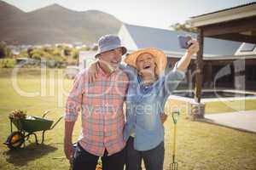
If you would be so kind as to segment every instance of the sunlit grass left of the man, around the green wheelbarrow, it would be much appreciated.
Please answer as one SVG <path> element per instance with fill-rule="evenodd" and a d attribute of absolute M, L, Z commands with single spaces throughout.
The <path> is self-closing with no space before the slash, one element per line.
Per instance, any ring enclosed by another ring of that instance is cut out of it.
<path fill-rule="evenodd" d="M 61 158 L 63 154 L 63 129 L 64 124 L 61 121 L 53 130 L 45 133 L 44 145 L 35 145 L 33 137 L 27 142 L 26 148 L 22 150 L 10 151 L 3 142 L 9 136 L 9 113 L 15 109 L 25 110 L 28 115 L 42 116 L 43 112 L 50 110 L 49 119 L 57 120 L 64 113 L 65 95 L 58 94 L 57 88 L 63 86 L 68 91 L 72 86 L 72 80 L 59 82 L 57 71 L 48 71 L 46 77 L 55 75 L 54 88 L 50 87 L 49 81 L 46 81 L 46 92 L 41 92 L 36 97 L 25 97 L 17 94 L 12 86 L 9 69 L 0 70 L 0 169 L 67 169 L 68 161 Z M 18 76 L 20 89 L 26 93 L 40 92 L 40 71 L 22 69 Z M 51 92 L 50 90 L 51 89 Z M 54 95 L 50 95 L 54 91 Z M 58 99 L 59 98 L 59 99 Z M 61 101 L 59 101 L 61 100 Z M 59 101 L 59 102 L 58 102 Z M 79 123 L 76 125 L 74 139 L 79 135 Z M 41 139 L 41 133 L 38 133 Z M 57 158 L 57 159 L 56 159 Z"/>

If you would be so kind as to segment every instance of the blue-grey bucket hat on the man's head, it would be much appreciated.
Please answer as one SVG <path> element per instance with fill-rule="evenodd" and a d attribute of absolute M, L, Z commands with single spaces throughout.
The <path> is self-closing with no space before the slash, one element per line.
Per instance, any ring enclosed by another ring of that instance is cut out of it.
<path fill-rule="evenodd" d="M 122 48 L 122 54 L 125 54 L 127 52 L 127 49 L 121 45 L 121 41 L 118 36 L 115 36 L 115 35 L 102 36 L 98 41 L 98 51 L 95 57 L 97 58 L 100 54 L 115 48 Z"/>

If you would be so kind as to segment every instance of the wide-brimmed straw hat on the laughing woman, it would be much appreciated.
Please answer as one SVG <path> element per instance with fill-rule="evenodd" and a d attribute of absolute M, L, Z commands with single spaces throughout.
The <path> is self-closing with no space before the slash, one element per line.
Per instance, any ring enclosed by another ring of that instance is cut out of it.
<path fill-rule="evenodd" d="M 163 71 L 165 71 L 166 69 L 166 64 L 167 64 L 167 58 L 166 58 L 166 54 L 157 48 L 142 48 L 139 49 L 129 55 L 126 56 L 125 58 L 125 63 L 127 65 L 131 65 L 134 68 L 137 68 L 136 65 L 136 61 L 137 61 L 137 57 L 140 54 L 152 54 L 154 56 L 154 62 L 157 66 L 157 74 L 160 75 L 163 73 Z"/>

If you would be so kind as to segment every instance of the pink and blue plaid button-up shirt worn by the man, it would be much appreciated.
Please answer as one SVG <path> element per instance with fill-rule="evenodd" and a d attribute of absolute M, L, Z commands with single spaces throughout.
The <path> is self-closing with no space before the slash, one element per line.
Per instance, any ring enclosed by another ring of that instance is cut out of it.
<path fill-rule="evenodd" d="M 79 144 L 95 156 L 103 156 L 107 149 L 110 156 L 125 147 L 123 104 L 129 79 L 120 69 L 108 76 L 98 68 L 94 83 L 88 83 L 87 71 L 76 78 L 67 98 L 65 121 L 75 122 L 82 109 Z"/>

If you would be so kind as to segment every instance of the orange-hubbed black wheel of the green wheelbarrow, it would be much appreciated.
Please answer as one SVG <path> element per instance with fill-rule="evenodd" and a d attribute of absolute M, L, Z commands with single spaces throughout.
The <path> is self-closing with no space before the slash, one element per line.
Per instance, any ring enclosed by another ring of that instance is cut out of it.
<path fill-rule="evenodd" d="M 9 149 L 17 149 L 25 142 L 25 137 L 19 131 L 15 131 L 11 133 L 6 140 L 5 144 L 9 147 Z"/>

